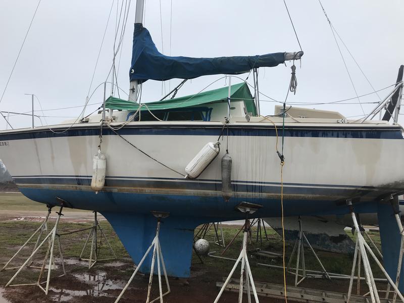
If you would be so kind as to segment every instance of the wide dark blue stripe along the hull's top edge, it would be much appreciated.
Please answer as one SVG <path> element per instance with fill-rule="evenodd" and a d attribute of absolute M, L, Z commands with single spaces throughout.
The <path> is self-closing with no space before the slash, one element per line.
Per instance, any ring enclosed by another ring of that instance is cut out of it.
<path fill-rule="evenodd" d="M 58 128 L 54 128 L 55 131 Z M 63 128 L 61 128 L 63 130 Z M 182 136 L 219 136 L 222 126 L 203 125 L 196 127 L 189 126 L 126 126 L 118 130 L 121 135 L 182 135 Z M 279 132 L 279 130 L 278 130 Z M 279 133 L 280 134 L 280 133 Z M 16 132 L 7 132 L 0 134 L 0 141 L 34 139 L 34 138 L 53 138 L 53 137 L 74 137 L 74 136 L 98 136 L 98 126 L 75 127 L 63 133 L 54 133 L 49 130 L 24 130 Z M 109 128 L 103 129 L 103 135 L 115 135 Z M 230 136 L 276 136 L 273 126 L 229 126 Z M 321 138 L 361 138 L 361 139 L 403 139 L 401 128 L 397 126 L 380 127 L 363 126 L 343 128 L 324 127 L 324 126 L 286 126 L 284 130 L 285 137 L 321 137 Z"/>

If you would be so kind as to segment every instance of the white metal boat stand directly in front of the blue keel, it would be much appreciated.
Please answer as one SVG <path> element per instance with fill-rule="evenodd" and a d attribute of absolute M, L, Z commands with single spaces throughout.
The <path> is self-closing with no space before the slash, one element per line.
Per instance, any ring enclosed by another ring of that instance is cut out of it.
<path fill-rule="evenodd" d="M 148 287 L 147 287 L 147 297 L 146 297 L 146 303 L 153 303 L 157 300 L 160 300 L 160 303 L 163 303 L 163 296 L 166 294 L 169 294 L 171 292 L 170 289 L 170 284 L 168 283 L 168 277 L 167 277 L 167 271 L 166 271 L 166 266 L 164 264 L 164 259 L 163 259 L 163 254 L 161 251 L 160 247 L 160 241 L 159 241 L 159 232 L 160 232 L 160 225 L 161 225 L 161 219 L 167 218 L 170 214 L 169 213 L 163 213 L 163 212 L 151 212 L 153 215 L 157 218 L 157 229 L 156 229 L 156 236 L 151 242 L 150 246 L 146 250 L 146 252 L 143 255 L 143 258 L 140 260 L 139 264 L 136 266 L 135 271 L 133 272 L 132 276 L 130 277 L 128 283 L 126 283 L 125 287 L 122 289 L 121 293 L 119 294 L 118 298 L 115 300 L 115 303 L 117 303 L 126 289 L 128 288 L 129 284 L 132 282 L 133 278 L 135 277 L 136 273 L 139 271 L 140 267 L 142 266 L 144 260 L 146 259 L 148 253 L 150 252 L 151 248 L 153 247 L 153 257 L 151 258 L 151 267 L 150 267 L 150 276 L 148 280 Z M 160 295 L 150 301 L 150 293 L 151 293 L 151 283 L 153 282 L 153 275 L 154 275 L 154 267 L 155 267 L 155 262 L 156 262 L 156 257 L 157 257 L 157 273 L 159 277 L 159 291 Z M 164 278 L 166 280 L 167 284 L 167 291 L 163 293 L 163 287 L 162 287 L 162 282 L 161 282 L 161 267 L 163 268 L 163 273 L 164 273 Z"/>

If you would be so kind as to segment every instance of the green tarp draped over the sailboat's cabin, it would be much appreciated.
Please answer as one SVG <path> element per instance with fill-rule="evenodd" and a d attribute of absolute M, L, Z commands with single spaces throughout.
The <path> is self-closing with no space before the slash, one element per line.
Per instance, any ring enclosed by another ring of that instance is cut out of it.
<path fill-rule="evenodd" d="M 222 87 L 214 90 L 208 90 L 200 92 L 194 95 L 183 96 L 174 99 L 162 100 L 157 102 L 146 103 L 147 108 L 150 111 L 154 110 L 170 110 L 179 108 L 188 108 L 200 105 L 206 105 L 209 103 L 223 102 L 227 100 L 229 88 Z M 248 85 L 245 82 L 234 84 L 230 88 L 230 98 L 232 100 L 244 100 L 246 110 L 252 115 L 257 115 L 257 109 L 254 103 L 254 99 L 248 89 Z M 132 101 L 119 99 L 110 96 L 106 100 L 106 108 L 113 110 L 131 110 L 136 111 L 139 108 L 139 104 Z M 146 107 L 142 107 L 140 110 L 147 110 Z"/>

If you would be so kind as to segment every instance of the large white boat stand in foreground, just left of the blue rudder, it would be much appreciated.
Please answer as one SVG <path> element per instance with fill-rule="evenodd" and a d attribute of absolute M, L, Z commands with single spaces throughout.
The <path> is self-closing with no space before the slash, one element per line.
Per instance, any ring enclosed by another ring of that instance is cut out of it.
<path fill-rule="evenodd" d="M 357 220 L 357 217 L 354 212 L 354 207 L 352 206 L 352 200 L 351 199 L 346 200 L 346 204 L 349 208 L 349 212 L 351 214 L 352 221 L 354 223 L 354 227 L 355 227 L 355 231 L 356 231 L 356 235 L 357 235 L 357 241 L 356 241 L 355 252 L 354 252 L 354 263 L 352 264 L 352 270 L 351 270 L 351 276 L 349 279 L 349 288 L 348 288 L 346 303 L 349 303 L 349 300 L 351 297 L 352 284 L 354 282 L 356 263 L 357 263 L 357 259 L 359 259 L 359 258 L 362 259 L 362 263 L 363 263 L 363 267 L 364 267 L 364 271 L 365 271 L 365 281 L 369 287 L 371 301 L 372 301 L 372 303 L 380 303 L 379 293 L 376 288 L 375 280 L 373 278 L 373 272 L 370 267 L 370 262 L 369 262 L 367 252 L 369 252 L 369 255 L 373 258 L 373 260 L 379 266 L 380 270 L 383 272 L 384 276 L 386 277 L 388 283 L 391 285 L 391 287 L 393 287 L 394 292 L 399 296 L 401 301 L 404 302 L 404 297 L 398 290 L 397 286 L 391 280 L 390 276 L 388 275 L 388 273 L 386 272 L 383 265 L 380 263 L 379 259 L 376 257 L 376 255 L 374 254 L 374 252 L 372 251 L 372 249 L 370 248 L 368 243 L 366 243 L 365 238 L 363 237 L 361 230 L 359 228 L 358 220 Z M 360 257 L 358 255 L 360 255 Z M 358 267 L 358 268 L 360 270 L 360 267 Z M 359 276 L 359 274 L 358 274 L 358 276 Z M 387 292 L 387 295 L 388 295 L 388 292 Z"/>

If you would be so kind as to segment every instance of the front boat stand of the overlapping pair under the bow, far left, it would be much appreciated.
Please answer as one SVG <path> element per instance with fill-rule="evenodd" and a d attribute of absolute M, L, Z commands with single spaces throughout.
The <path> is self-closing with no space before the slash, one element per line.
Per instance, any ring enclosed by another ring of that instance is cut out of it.
<path fill-rule="evenodd" d="M 63 206 L 61 206 L 60 211 L 57 212 L 58 217 L 56 218 L 56 223 L 55 223 L 55 226 L 53 227 L 53 229 L 45 236 L 45 238 L 42 240 L 42 242 L 39 245 L 37 245 L 37 247 L 34 249 L 32 254 L 28 257 L 28 259 L 24 262 L 24 264 L 21 265 L 21 267 L 18 269 L 18 271 L 14 274 L 14 276 L 6 284 L 6 287 L 7 286 L 36 285 L 40 289 L 42 289 L 45 292 L 45 294 L 47 294 L 48 290 L 49 290 L 49 281 L 51 280 L 52 266 L 54 265 L 54 248 L 55 248 L 55 239 L 56 239 L 56 237 L 58 237 L 59 253 L 60 253 L 60 257 L 62 259 L 61 263 L 62 263 L 62 268 L 63 268 L 63 275 L 61 275 L 60 277 L 66 275 L 65 262 L 63 260 L 62 248 L 61 248 L 61 245 L 60 245 L 59 235 L 57 233 L 60 218 L 61 218 L 61 216 L 63 216 L 62 210 L 63 210 Z M 48 239 L 50 239 L 50 241 Z M 48 248 L 46 250 L 45 258 L 43 259 L 43 262 L 42 262 L 42 267 L 40 267 L 41 270 L 40 270 L 39 277 L 38 277 L 38 280 L 36 281 L 36 283 L 31 283 L 31 284 L 11 284 L 14 281 L 14 279 L 18 276 L 18 274 L 25 267 L 27 267 L 28 264 L 30 264 L 32 262 L 32 258 L 35 256 L 35 254 L 39 251 L 39 249 L 44 245 L 44 243 L 46 241 L 48 241 Z M 50 254 L 50 257 L 48 259 L 49 254 Z M 47 260 L 49 260 L 49 261 L 47 261 Z M 45 270 L 46 263 L 48 263 L 47 278 L 46 278 L 46 281 L 40 282 L 40 280 L 41 280 L 41 278 L 43 276 L 44 270 Z M 46 283 L 45 288 L 43 288 L 42 285 L 41 285 L 43 283 Z"/>

